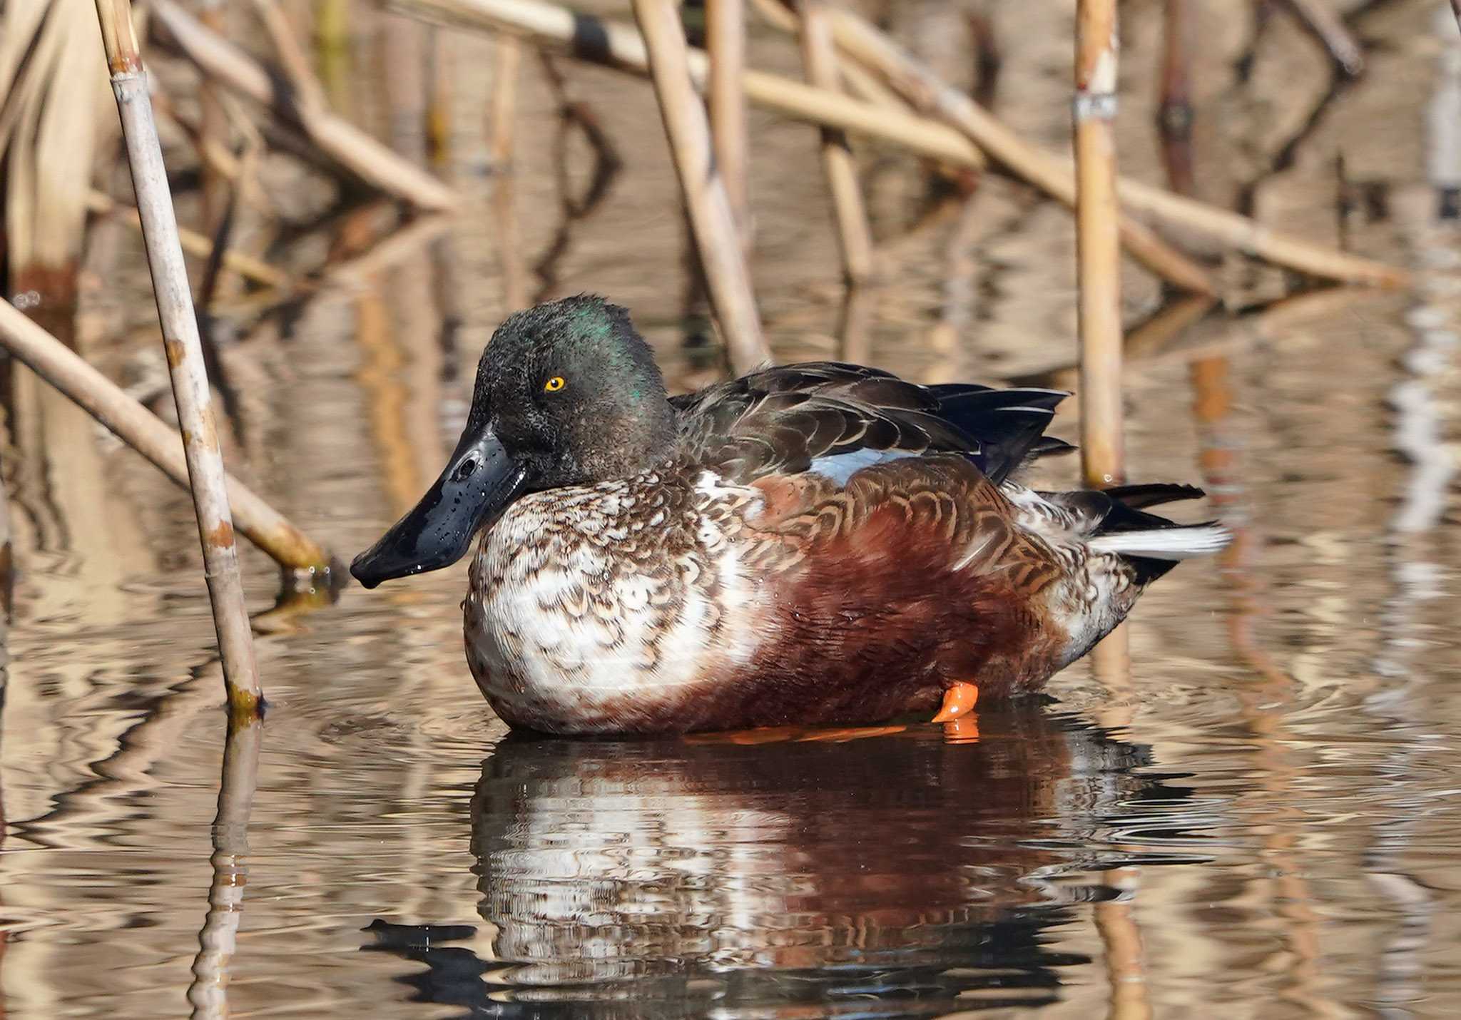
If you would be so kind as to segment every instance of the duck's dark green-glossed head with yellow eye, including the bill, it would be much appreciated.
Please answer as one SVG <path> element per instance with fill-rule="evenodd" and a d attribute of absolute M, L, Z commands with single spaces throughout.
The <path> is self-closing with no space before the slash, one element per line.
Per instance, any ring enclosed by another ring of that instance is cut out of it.
<path fill-rule="evenodd" d="M 628 478 L 672 456 L 675 412 L 628 311 L 580 295 L 508 316 L 435 484 L 351 573 L 365 587 L 440 570 L 526 492 Z"/>

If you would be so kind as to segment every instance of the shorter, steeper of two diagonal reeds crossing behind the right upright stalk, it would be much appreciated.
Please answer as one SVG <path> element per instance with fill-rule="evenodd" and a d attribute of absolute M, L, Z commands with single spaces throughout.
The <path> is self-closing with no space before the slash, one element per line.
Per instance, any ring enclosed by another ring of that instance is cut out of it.
<path fill-rule="evenodd" d="M 1026 143 L 958 89 L 941 82 L 877 28 L 844 10 L 831 12 L 837 44 L 856 60 L 875 67 L 915 110 L 935 113 L 964 132 L 998 164 L 1068 208 L 1075 208 L 1074 175 L 1059 162 Z M 1134 259 L 1161 279 L 1198 294 L 1214 294 L 1208 272 L 1169 246 L 1150 228 L 1118 215 L 1121 241 Z"/>

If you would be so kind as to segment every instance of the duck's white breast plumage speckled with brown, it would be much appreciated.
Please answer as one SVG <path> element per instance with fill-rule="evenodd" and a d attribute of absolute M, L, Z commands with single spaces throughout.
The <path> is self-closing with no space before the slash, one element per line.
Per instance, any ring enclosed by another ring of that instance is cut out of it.
<path fill-rule="evenodd" d="M 514 725 L 676 729 L 748 661 L 755 587 L 732 538 L 760 495 L 671 471 L 516 503 L 484 536 L 463 605 L 472 675 Z"/>

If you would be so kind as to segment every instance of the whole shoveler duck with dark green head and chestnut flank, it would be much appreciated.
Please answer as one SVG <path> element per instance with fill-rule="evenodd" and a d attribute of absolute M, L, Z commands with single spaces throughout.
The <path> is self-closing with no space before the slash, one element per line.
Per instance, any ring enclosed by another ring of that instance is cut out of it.
<path fill-rule="evenodd" d="M 1036 492 L 1065 393 L 764 368 L 669 397 L 628 313 L 510 316 L 462 440 L 351 564 L 460 560 L 466 658 L 510 725 L 557 734 L 937 720 L 1037 691 L 1178 560 L 1227 542 L 1145 507 L 1189 485 Z"/>

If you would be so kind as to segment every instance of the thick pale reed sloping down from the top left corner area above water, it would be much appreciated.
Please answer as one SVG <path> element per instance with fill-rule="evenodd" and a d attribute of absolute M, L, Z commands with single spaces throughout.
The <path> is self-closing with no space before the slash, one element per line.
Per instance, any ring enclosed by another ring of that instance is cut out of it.
<path fill-rule="evenodd" d="M 373 187 L 424 209 L 450 209 L 457 196 L 446 184 L 323 107 L 300 102 L 243 50 L 207 31 L 172 0 L 153 0 L 153 16 L 197 69 L 234 92 L 297 124 L 339 165 Z"/>

